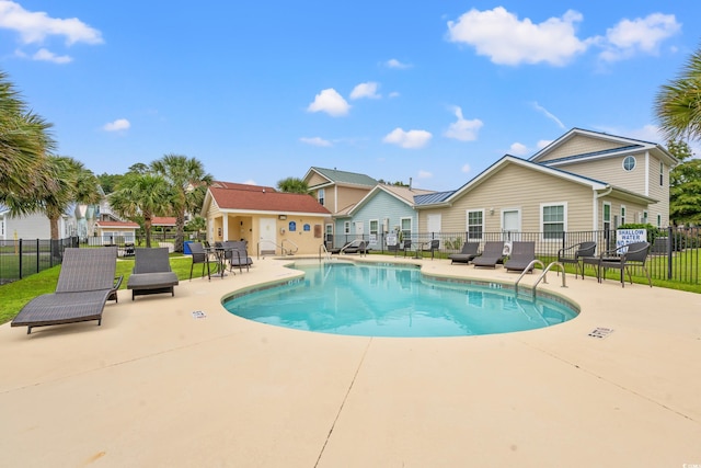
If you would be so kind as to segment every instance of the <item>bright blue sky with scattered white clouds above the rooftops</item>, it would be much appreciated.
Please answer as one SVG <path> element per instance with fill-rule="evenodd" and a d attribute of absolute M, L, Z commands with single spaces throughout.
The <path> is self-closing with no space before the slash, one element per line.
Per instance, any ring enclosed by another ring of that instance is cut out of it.
<path fill-rule="evenodd" d="M 654 98 L 699 18 L 692 0 L 0 0 L 0 69 L 95 173 L 179 153 L 230 182 L 318 165 L 443 191 L 573 127 L 664 144 Z"/>

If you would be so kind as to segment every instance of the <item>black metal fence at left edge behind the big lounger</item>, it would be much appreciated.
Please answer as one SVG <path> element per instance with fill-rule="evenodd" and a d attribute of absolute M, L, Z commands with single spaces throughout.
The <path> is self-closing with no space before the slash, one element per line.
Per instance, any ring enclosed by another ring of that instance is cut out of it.
<path fill-rule="evenodd" d="M 68 247 L 78 247 L 78 238 L 0 240 L 0 284 L 60 264 Z"/>

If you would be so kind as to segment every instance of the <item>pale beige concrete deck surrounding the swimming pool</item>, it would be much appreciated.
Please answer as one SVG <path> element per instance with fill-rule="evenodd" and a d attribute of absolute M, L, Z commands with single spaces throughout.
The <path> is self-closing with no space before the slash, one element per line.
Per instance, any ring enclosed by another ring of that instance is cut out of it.
<path fill-rule="evenodd" d="M 229 315 L 227 293 L 297 274 L 288 262 L 254 262 L 250 273 L 183 281 L 175 297 L 133 301 L 120 290 L 101 327 L 26 335 L 1 326 L 0 466 L 701 464 L 701 295 L 571 275 L 561 288 L 553 272 L 539 288 L 582 307 L 566 323 L 338 336 Z M 518 277 L 417 262 L 427 274 Z M 613 331 L 589 336 L 597 328 Z"/>

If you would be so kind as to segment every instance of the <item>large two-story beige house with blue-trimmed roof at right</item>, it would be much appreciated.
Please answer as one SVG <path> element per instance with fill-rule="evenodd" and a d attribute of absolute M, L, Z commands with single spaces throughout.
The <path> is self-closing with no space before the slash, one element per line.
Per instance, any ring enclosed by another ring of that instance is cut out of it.
<path fill-rule="evenodd" d="M 418 231 L 540 232 L 614 229 L 669 219 L 669 169 L 655 144 L 573 129 L 530 160 L 505 156 L 443 201 L 418 204 Z M 434 229 L 436 229 L 434 227 Z"/>

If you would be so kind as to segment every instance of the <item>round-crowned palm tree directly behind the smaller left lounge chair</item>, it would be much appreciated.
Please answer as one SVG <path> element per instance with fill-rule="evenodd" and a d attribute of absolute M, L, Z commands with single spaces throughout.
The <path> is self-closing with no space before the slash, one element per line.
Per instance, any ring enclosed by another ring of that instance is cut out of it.
<path fill-rule="evenodd" d="M 128 172 L 108 199 L 119 216 L 131 220 L 143 218 L 146 247 L 150 248 L 152 219 L 171 213 L 173 191 L 162 175 Z"/>

